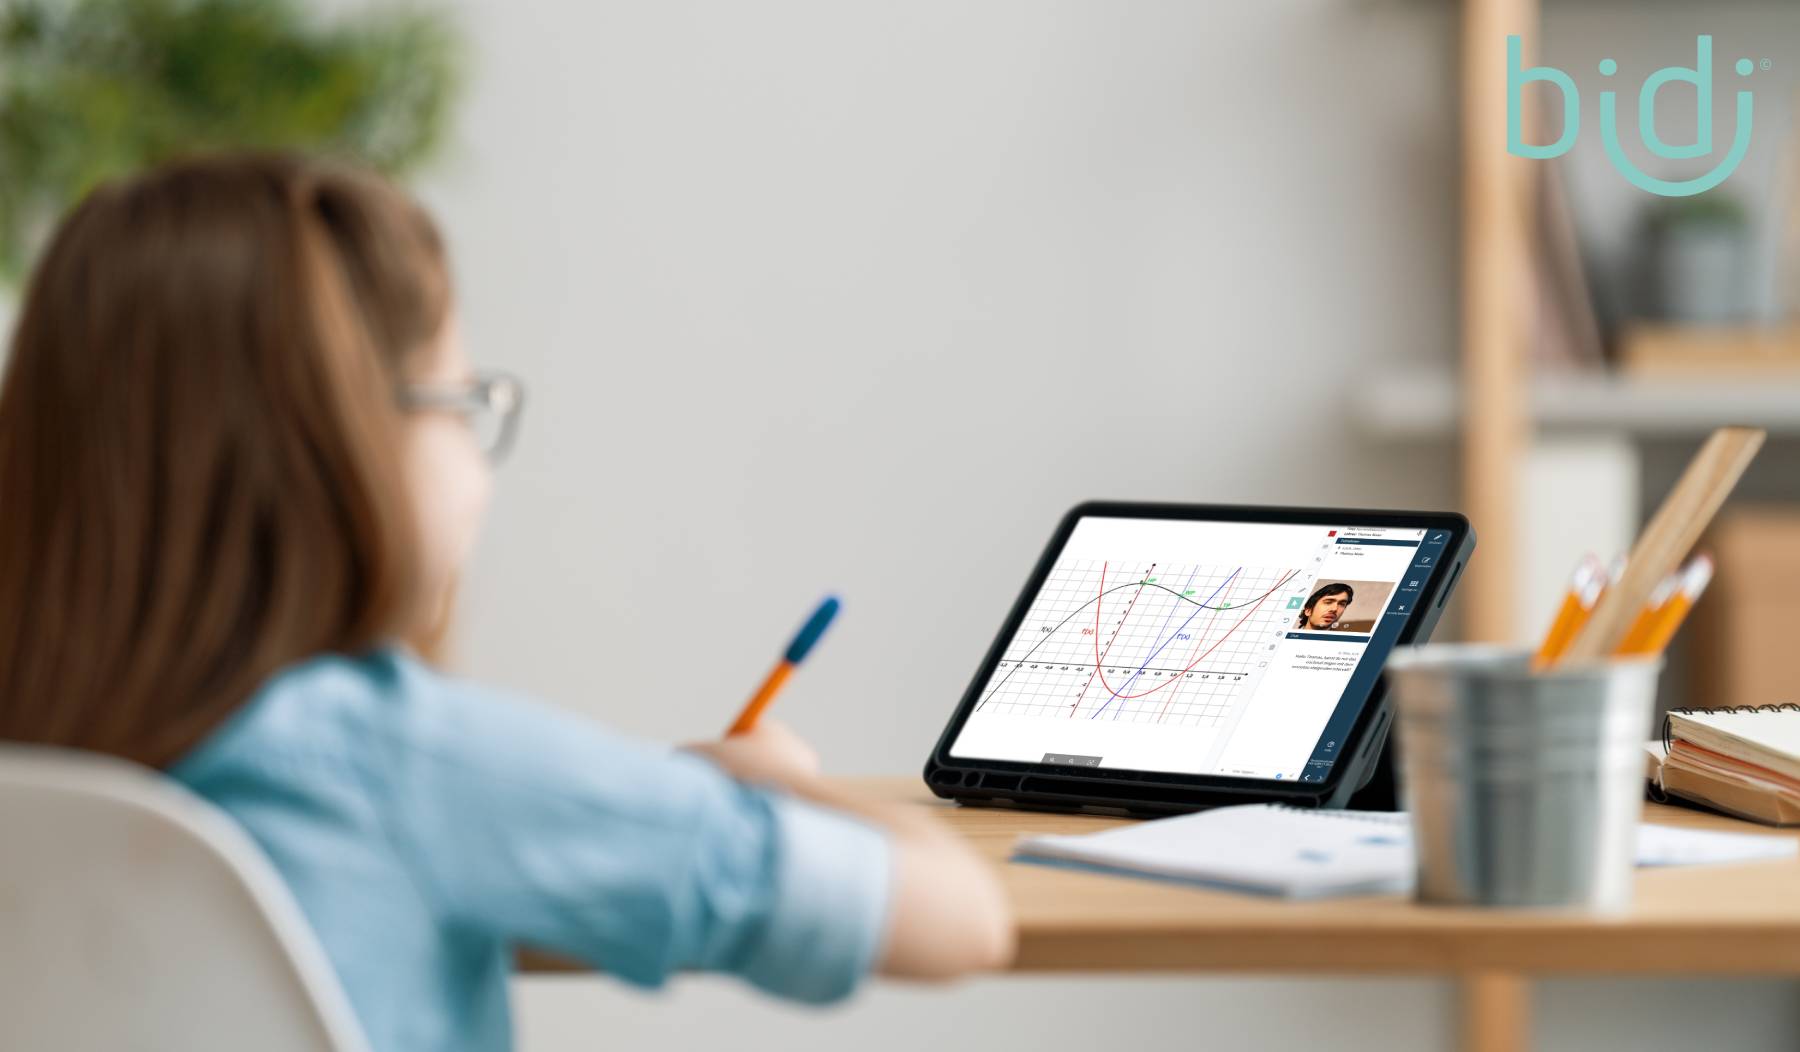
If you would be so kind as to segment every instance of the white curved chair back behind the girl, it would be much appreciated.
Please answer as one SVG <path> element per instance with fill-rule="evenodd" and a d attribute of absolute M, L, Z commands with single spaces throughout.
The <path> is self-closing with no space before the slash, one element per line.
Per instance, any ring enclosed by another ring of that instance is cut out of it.
<path fill-rule="evenodd" d="M 0 744 L 0 1045 L 367 1050 L 229 816 L 135 764 L 18 744 Z"/>

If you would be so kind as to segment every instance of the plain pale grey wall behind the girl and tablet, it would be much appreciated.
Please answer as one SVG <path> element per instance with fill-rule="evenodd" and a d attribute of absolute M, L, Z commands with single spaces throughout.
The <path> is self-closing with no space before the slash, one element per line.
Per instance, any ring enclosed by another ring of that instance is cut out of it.
<path fill-rule="evenodd" d="M 468 0 L 428 198 L 473 351 L 531 405 L 463 665 L 707 735 L 837 589 L 779 712 L 837 771 L 914 773 L 1064 506 L 1447 504 L 1449 450 L 1363 438 L 1345 389 L 1453 346 L 1453 11 Z M 1654 989 L 1604 1020 L 1555 989 L 1552 1047 L 1679 1023 Z M 1786 993 L 1732 987 L 1733 1047 L 1786 1047 Z M 990 980 L 823 1016 L 720 980 L 520 994 L 531 1052 L 1451 1034 L 1424 980 Z"/>

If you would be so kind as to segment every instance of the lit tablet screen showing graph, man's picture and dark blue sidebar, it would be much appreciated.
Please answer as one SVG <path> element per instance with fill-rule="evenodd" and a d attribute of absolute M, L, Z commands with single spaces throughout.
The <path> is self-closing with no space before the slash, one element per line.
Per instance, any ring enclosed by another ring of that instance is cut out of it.
<path fill-rule="evenodd" d="M 1323 782 L 1449 540 L 1084 517 L 950 755 Z"/>

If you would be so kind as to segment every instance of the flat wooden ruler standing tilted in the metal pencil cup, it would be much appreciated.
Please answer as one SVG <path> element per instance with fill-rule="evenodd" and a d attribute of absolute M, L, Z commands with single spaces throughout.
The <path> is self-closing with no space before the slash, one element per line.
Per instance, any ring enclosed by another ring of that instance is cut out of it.
<path fill-rule="evenodd" d="M 1600 594 L 1593 614 L 1562 652 L 1559 665 L 1600 661 L 1618 650 L 1651 591 L 1687 558 L 1737 486 L 1737 479 L 1744 477 L 1744 468 L 1762 449 L 1764 438 L 1768 434 L 1755 427 L 1721 427 L 1712 432 L 1681 472 L 1681 481 L 1663 497 L 1651 524 L 1638 535 L 1625 573 Z"/>

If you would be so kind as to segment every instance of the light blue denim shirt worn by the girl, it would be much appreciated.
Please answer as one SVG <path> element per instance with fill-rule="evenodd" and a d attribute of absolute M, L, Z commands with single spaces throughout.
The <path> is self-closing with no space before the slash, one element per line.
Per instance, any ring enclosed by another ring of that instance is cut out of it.
<path fill-rule="evenodd" d="M 268 852 L 378 1052 L 511 1048 L 517 944 L 830 1002 L 886 928 L 878 830 L 396 650 L 275 676 L 169 775 Z"/>

